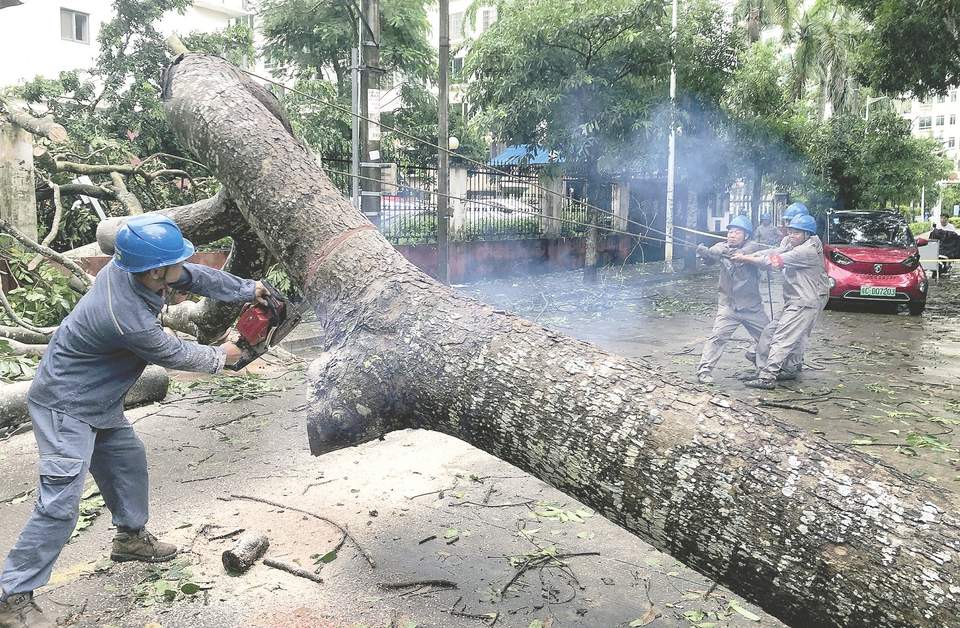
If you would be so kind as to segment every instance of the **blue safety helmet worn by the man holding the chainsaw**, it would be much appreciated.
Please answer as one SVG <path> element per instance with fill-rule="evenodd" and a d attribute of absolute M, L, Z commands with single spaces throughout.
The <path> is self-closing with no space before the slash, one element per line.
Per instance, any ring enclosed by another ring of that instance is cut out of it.
<path fill-rule="evenodd" d="M 193 243 L 166 216 L 134 216 L 117 232 L 114 263 L 128 273 L 178 264 L 193 255 Z"/>

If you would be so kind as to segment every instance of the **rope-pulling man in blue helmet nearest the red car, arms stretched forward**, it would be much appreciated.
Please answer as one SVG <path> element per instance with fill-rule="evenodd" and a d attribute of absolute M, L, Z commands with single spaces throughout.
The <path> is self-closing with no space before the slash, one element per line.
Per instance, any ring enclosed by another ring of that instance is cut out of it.
<path fill-rule="evenodd" d="M 783 270 L 783 309 L 757 343 L 756 378 L 746 383 L 750 388 L 769 390 L 778 380 L 796 377 L 795 372 L 784 371 L 784 366 L 791 356 L 802 355 L 830 294 L 817 221 L 809 214 L 796 215 L 783 246 L 735 255 L 734 259 L 758 268 Z"/>

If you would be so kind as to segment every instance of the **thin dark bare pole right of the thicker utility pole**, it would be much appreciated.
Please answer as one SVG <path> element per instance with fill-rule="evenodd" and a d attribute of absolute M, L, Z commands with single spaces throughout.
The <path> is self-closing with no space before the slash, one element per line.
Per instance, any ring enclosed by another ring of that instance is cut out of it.
<path fill-rule="evenodd" d="M 440 151 L 437 155 L 437 275 L 443 283 L 450 283 L 449 215 L 450 203 L 450 0 L 440 0 L 440 68 L 438 72 L 437 137 Z"/>

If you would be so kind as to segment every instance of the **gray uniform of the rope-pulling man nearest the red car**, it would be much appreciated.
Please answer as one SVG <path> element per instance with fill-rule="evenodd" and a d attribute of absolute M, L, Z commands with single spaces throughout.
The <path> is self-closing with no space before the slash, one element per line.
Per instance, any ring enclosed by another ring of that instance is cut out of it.
<path fill-rule="evenodd" d="M 771 266 L 774 255 L 783 262 L 783 309 L 757 343 L 758 376 L 773 380 L 781 370 L 802 365 L 807 339 L 827 304 L 830 285 L 823 264 L 823 243 L 815 235 L 797 247 L 784 245 L 762 253 L 766 267 Z"/>

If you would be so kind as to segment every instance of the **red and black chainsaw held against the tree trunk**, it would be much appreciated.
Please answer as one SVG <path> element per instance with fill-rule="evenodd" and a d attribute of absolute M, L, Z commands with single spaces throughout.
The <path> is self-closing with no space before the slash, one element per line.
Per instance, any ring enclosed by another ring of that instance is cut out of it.
<path fill-rule="evenodd" d="M 239 371 L 270 350 L 297 326 L 303 315 L 300 304 L 291 301 L 282 292 L 265 280 L 260 283 L 267 289 L 266 303 L 248 303 L 240 310 L 237 319 L 237 346 L 241 356 L 235 364 L 226 368 Z"/>

